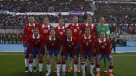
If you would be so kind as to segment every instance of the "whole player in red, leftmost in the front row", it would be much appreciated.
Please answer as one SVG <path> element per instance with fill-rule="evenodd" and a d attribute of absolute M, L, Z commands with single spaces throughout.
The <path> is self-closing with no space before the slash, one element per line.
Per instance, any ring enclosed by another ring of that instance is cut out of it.
<path fill-rule="evenodd" d="M 33 29 L 32 35 L 28 37 L 27 43 L 29 48 L 29 74 L 32 75 L 33 58 L 39 56 L 39 73 L 42 76 L 43 71 L 43 36 L 39 33 L 39 28 Z"/>

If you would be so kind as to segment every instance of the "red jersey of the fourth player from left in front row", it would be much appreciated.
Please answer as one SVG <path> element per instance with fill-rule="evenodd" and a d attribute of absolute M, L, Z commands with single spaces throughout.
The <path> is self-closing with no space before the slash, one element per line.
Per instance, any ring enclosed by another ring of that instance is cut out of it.
<path fill-rule="evenodd" d="M 95 37 L 93 35 L 89 35 L 87 38 L 85 34 L 81 36 L 80 39 L 80 49 L 81 49 L 81 56 L 83 55 L 84 51 L 91 52 L 91 56 L 94 56 L 94 41 Z"/>

